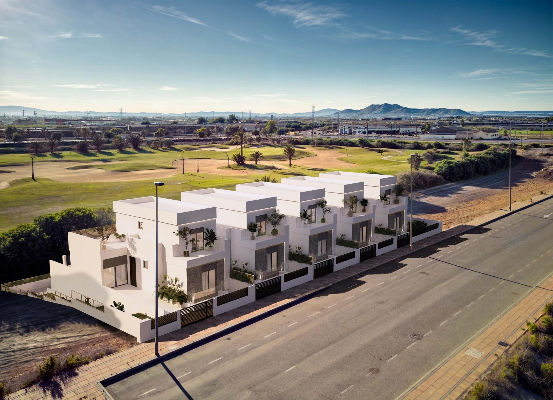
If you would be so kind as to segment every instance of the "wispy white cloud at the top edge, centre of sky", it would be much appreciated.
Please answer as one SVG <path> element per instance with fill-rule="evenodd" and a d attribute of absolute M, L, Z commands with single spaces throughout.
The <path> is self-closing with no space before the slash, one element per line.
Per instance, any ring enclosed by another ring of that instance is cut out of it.
<path fill-rule="evenodd" d="M 319 6 L 313 3 L 280 3 L 270 5 L 266 1 L 257 3 L 257 7 L 273 15 L 292 18 L 297 27 L 325 26 L 346 16 L 338 7 Z"/>

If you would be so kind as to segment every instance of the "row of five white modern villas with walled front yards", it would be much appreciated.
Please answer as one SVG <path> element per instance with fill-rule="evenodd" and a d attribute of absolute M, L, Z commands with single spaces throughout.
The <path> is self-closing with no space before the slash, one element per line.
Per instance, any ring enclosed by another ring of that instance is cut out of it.
<path fill-rule="evenodd" d="M 69 258 L 50 260 L 50 278 L 11 290 L 144 342 L 156 285 L 163 335 L 409 245 L 400 189 L 394 175 L 337 171 L 114 201 L 115 225 L 67 232 Z M 442 230 L 420 218 L 413 227 L 414 242 Z"/>

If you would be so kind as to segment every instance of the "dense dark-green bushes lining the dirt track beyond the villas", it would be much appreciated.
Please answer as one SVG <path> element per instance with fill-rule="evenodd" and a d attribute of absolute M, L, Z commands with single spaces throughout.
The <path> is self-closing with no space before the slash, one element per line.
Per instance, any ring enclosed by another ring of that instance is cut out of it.
<path fill-rule="evenodd" d="M 513 160 L 515 150 L 512 149 Z M 514 161 L 513 161 L 514 162 Z M 447 181 L 471 179 L 479 175 L 489 175 L 509 165 L 508 150 L 498 152 L 487 150 L 481 154 L 469 155 L 462 160 L 442 160 L 436 163 L 434 172 Z"/>

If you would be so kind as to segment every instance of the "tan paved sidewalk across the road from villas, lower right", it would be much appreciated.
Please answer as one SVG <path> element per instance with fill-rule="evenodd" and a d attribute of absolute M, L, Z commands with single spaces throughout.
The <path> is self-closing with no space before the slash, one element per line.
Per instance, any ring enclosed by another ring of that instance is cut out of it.
<path fill-rule="evenodd" d="M 498 357 L 507 351 L 510 345 L 524 334 L 520 328 L 526 321 L 539 318 L 545 303 L 552 298 L 553 277 L 550 277 L 541 285 L 531 289 L 530 294 L 400 398 L 426 400 L 456 399 L 461 396 L 465 389 L 471 386 Z M 500 341 L 508 346 L 499 345 Z"/>

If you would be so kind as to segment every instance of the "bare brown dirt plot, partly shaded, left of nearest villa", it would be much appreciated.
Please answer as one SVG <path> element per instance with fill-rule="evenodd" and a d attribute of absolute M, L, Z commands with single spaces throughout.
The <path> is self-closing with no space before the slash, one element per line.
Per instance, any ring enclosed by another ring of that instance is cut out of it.
<path fill-rule="evenodd" d="M 0 378 L 22 381 L 50 354 L 116 352 L 137 344 L 135 337 L 71 307 L 0 292 Z"/>

